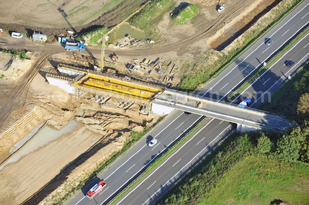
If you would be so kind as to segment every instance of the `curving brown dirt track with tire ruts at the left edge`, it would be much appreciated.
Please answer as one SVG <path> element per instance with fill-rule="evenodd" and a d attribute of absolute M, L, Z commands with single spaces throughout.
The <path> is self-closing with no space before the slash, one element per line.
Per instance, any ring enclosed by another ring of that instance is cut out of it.
<path fill-rule="evenodd" d="M 19 80 L 19 83 L 7 93 L 1 93 L 5 100 L 1 100 L 2 106 L 0 109 L 0 129 L 3 130 L 5 120 L 11 113 L 11 111 L 17 110 L 22 107 L 26 102 L 26 97 L 28 94 L 28 89 L 33 78 L 39 72 L 38 68 L 43 66 L 48 57 L 55 53 L 55 51 L 44 51 L 39 55 L 39 57 L 33 62 L 30 69 L 26 74 Z"/>

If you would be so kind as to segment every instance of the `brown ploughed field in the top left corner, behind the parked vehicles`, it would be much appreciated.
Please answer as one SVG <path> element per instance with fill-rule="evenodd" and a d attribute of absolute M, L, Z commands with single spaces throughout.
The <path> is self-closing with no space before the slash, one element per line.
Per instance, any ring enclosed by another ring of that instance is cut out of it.
<path fill-rule="evenodd" d="M 32 35 L 33 30 L 58 35 L 67 29 L 87 32 L 100 26 L 117 25 L 143 2 L 145 0 L 22 0 L 13 5 L 5 1 L 2 3 L 0 27 L 28 35 Z"/>

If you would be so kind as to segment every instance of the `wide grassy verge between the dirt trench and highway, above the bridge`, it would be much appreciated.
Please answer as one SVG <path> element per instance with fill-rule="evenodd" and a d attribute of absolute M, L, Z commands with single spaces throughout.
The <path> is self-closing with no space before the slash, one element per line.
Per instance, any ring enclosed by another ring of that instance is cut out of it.
<path fill-rule="evenodd" d="M 225 68 L 231 65 L 235 59 L 237 59 L 243 52 L 248 50 L 258 39 L 260 39 L 263 35 L 265 35 L 273 26 L 277 23 L 281 22 L 281 20 L 292 10 L 294 10 L 303 0 L 293 1 L 293 4 L 290 6 L 289 1 L 282 1 L 282 6 L 280 7 L 280 11 L 274 11 L 274 15 L 277 18 L 267 18 L 263 19 L 263 21 L 271 21 L 267 24 L 266 27 L 263 27 L 261 24 L 258 24 L 256 29 L 247 30 L 243 33 L 243 40 L 238 43 L 239 45 L 233 48 L 231 51 L 227 53 L 220 53 L 221 55 L 216 55 L 217 60 L 214 63 L 208 63 L 207 59 L 205 62 L 201 62 L 200 65 L 195 65 L 197 67 L 197 72 L 193 74 L 189 74 L 184 77 L 179 85 L 180 90 L 197 90 L 202 88 L 205 84 L 207 84 L 214 77 L 218 76 Z M 272 12 L 272 11 L 270 11 Z M 214 49 L 209 49 L 209 53 L 205 53 L 205 57 L 207 58 L 210 55 L 214 54 Z"/>

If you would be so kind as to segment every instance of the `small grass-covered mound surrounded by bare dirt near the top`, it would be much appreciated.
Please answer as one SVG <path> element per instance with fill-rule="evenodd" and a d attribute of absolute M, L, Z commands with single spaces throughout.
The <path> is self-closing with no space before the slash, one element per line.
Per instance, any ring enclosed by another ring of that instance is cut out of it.
<path fill-rule="evenodd" d="M 176 14 L 173 14 L 171 21 L 175 24 L 184 24 L 188 20 L 192 19 L 197 15 L 197 6 L 188 4 L 181 8 Z"/>

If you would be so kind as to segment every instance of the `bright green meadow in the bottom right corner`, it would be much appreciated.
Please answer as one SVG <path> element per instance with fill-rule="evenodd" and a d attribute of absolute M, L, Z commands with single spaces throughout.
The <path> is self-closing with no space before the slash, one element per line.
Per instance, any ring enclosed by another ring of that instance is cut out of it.
<path fill-rule="evenodd" d="M 289 204 L 309 204 L 309 166 L 290 164 L 273 156 L 244 157 L 205 193 L 198 205 L 271 204 L 274 199 Z"/>

